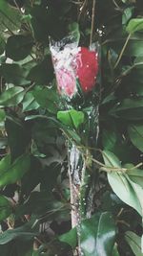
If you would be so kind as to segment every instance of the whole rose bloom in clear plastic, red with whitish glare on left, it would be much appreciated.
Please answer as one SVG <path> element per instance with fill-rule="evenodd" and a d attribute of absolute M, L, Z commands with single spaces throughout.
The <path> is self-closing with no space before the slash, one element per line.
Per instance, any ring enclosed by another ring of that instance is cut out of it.
<path fill-rule="evenodd" d="M 52 53 L 58 91 L 61 95 L 72 96 L 77 92 L 76 79 L 83 92 L 89 92 L 95 85 L 98 59 L 95 51 L 88 48 L 70 48 Z"/>

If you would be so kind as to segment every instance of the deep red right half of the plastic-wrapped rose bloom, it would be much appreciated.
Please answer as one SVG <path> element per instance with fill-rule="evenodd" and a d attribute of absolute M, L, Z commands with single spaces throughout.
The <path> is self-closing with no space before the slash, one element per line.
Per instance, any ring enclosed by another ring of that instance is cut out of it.
<path fill-rule="evenodd" d="M 76 55 L 76 76 L 84 92 L 89 92 L 95 85 L 98 72 L 98 59 L 95 51 L 81 47 Z"/>

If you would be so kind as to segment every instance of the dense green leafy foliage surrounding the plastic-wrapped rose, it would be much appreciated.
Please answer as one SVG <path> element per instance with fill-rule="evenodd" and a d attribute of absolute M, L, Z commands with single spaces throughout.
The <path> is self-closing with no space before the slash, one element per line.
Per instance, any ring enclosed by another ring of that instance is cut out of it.
<path fill-rule="evenodd" d="M 78 232 L 68 143 L 85 113 L 65 112 L 50 51 L 67 35 L 101 52 L 94 208 Z M 79 237 L 84 256 L 143 255 L 142 1 L 1 0 L 0 77 L 0 256 L 77 255 Z"/>

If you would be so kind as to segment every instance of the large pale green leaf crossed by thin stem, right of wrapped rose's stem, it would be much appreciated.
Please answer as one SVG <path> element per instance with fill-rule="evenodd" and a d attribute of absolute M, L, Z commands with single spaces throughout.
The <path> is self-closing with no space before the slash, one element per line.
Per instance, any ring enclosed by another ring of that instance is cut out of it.
<path fill-rule="evenodd" d="M 103 158 L 108 167 L 121 168 L 119 159 L 111 151 L 103 151 Z M 143 189 L 121 171 L 115 170 L 108 173 L 108 180 L 117 197 L 132 206 L 142 216 Z"/>

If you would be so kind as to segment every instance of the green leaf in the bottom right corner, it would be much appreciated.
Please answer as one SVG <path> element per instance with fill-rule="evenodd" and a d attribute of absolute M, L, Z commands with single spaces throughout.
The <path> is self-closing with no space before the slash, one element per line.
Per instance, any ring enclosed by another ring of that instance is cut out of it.
<path fill-rule="evenodd" d="M 141 238 L 137 236 L 133 231 L 127 231 L 125 233 L 125 240 L 133 249 L 135 256 L 143 256 L 141 252 Z"/>

